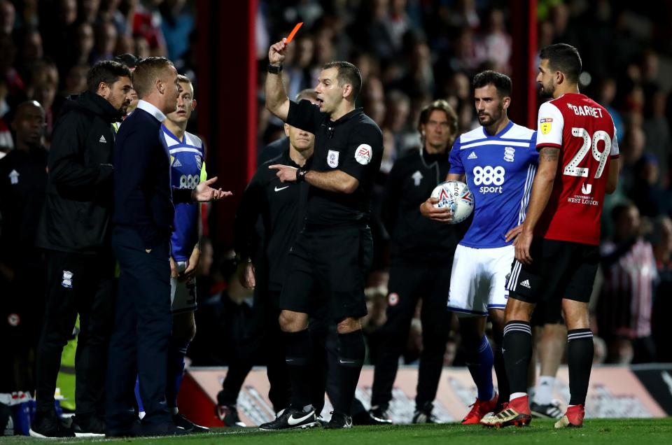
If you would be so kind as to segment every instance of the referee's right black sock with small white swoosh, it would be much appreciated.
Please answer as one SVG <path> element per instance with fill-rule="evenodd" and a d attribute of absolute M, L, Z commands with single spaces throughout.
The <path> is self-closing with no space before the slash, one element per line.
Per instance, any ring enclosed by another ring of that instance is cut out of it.
<path fill-rule="evenodd" d="M 361 330 L 338 334 L 338 398 L 334 411 L 350 415 L 366 348 Z"/>

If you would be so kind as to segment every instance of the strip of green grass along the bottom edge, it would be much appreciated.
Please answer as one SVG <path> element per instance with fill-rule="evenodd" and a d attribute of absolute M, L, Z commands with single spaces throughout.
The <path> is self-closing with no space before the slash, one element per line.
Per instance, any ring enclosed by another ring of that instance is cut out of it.
<path fill-rule="evenodd" d="M 2 444 L 38 442 L 29 437 L 2 437 Z M 672 418 L 591 419 L 584 428 L 554 430 L 552 421 L 534 420 L 525 428 L 489 430 L 479 425 L 395 425 L 355 427 L 353 430 L 259 432 L 253 428 L 218 429 L 207 435 L 139 439 L 64 439 L 42 443 L 123 442 L 139 445 L 385 445 L 385 444 L 672 444 Z"/>

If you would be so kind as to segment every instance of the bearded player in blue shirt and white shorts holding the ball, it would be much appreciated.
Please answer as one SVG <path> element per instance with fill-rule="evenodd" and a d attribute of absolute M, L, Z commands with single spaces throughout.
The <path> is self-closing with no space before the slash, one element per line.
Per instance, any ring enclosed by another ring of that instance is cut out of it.
<path fill-rule="evenodd" d="M 525 218 L 532 178 L 537 166 L 535 132 L 507 117 L 511 79 L 483 71 L 473 80 L 474 101 L 482 127 L 462 134 L 450 152 L 447 181 L 465 181 L 475 196 L 474 219 L 455 250 L 448 309 L 460 320 L 469 372 L 478 390 L 476 402 L 463 424 L 479 423 L 493 411 L 498 395 L 493 388 L 495 365 L 500 403 L 508 399 L 501 353 L 506 277 L 513 261 L 510 230 Z M 437 209 L 437 199 L 421 206 L 424 215 L 448 223 L 452 214 Z M 496 351 L 485 336 L 486 319 L 493 321 Z"/>

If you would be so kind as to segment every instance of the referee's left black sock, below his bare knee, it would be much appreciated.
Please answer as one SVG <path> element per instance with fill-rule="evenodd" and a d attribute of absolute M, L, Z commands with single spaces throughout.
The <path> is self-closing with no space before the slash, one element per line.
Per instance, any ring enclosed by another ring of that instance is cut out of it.
<path fill-rule="evenodd" d="M 283 332 L 285 339 L 285 362 L 290 382 L 292 397 L 290 406 L 303 409 L 310 404 L 310 371 L 311 343 L 308 330 L 299 332 Z"/>

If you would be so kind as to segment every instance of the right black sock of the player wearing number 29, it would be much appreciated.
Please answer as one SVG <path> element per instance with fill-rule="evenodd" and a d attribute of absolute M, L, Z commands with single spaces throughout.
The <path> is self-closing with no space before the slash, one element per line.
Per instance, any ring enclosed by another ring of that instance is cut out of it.
<path fill-rule="evenodd" d="M 586 403 L 593 365 L 593 332 L 589 328 L 567 331 L 570 405 Z"/>

